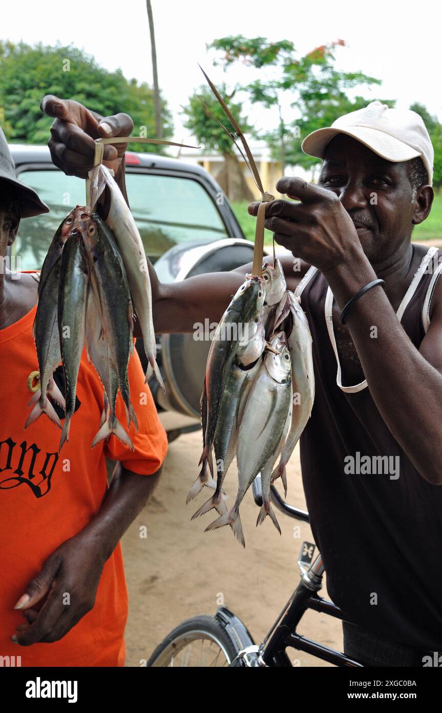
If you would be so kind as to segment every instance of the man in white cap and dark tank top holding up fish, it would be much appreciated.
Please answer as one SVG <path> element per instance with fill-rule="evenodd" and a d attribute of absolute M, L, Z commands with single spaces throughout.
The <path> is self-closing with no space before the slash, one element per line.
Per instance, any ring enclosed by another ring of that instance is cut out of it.
<path fill-rule="evenodd" d="M 83 130 L 82 143 L 78 126 L 53 124 L 68 173 L 92 165 Z M 312 332 L 315 405 L 300 440 L 312 532 L 352 622 L 346 654 L 422 666 L 442 652 L 442 254 L 411 232 L 431 210 L 433 148 L 416 113 L 379 102 L 302 148 L 323 159 L 318 185 L 281 178 L 297 202 L 268 203 L 265 225 L 295 257 L 281 262 Z M 155 330 L 218 320 L 250 270 L 167 285 L 152 270 Z"/>

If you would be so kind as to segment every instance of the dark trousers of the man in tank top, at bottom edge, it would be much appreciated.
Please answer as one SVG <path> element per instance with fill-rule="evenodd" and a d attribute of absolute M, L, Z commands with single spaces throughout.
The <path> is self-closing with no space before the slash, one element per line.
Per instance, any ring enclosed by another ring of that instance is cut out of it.
<path fill-rule="evenodd" d="M 406 647 L 362 629 L 356 624 L 342 622 L 344 654 L 366 666 L 422 667 L 422 659 L 432 652 Z"/>

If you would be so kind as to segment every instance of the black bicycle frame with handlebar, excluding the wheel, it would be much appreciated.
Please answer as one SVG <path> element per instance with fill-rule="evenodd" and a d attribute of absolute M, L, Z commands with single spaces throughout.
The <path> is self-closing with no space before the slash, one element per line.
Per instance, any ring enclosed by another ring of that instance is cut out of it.
<path fill-rule="evenodd" d="M 270 488 L 270 496 L 275 507 L 285 513 L 285 515 L 289 515 L 291 518 L 296 518 L 297 520 L 302 520 L 303 522 L 310 522 L 308 513 L 304 510 L 300 510 L 300 508 L 295 508 L 285 503 L 274 486 Z M 260 474 L 258 474 L 255 481 L 253 481 L 253 497 L 255 498 L 256 504 L 261 507 L 263 500 Z M 322 612 L 322 614 L 327 614 L 336 619 L 348 620 L 340 607 L 324 599 L 324 597 L 317 595 L 317 592 L 322 587 L 324 565 L 322 564 L 322 556 L 320 554 L 313 560 L 314 550 L 315 545 L 313 543 L 302 543 L 300 559 L 298 560 L 301 570 L 301 579 L 298 587 L 288 600 L 262 644 L 260 646 L 249 646 L 240 651 L 231 662 L 231 667 L 238 665 L 249 667 L 292 666 L 293 664 L 286 652 L 288 647 L 312 654 L 318 659 L 327 661 L 335 666 L 364 667 L 364 664 L 350 659 L 341 652 L 324 646 L 317 641 L 308 639 L 299 634 L 296 630 L 302 616 L 308 609 Z"/>

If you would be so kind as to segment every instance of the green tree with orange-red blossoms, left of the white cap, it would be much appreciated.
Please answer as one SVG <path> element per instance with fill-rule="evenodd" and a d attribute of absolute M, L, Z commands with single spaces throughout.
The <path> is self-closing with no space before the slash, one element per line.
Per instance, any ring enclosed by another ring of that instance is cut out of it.
<path fill-rule="evenodd" d="M 350 99 L 349 89 L 380 84 L 378 79 L 361 72 L 337 71 L 333 54 L 337 46 L 344 46 L 344 41 L 322 45 L 302 57 L 297 56 L 292 42 L 270 42 L 264 37 L 228 36 L 208 46 L 221 53 L 214 63 L 225 69 L 241 62 L 267 71 L 268 77 L 258 78 L 242 89 L 248 93 L 251 103 L 277 109 L 278 125 L 261 133 L 261 138 L 268 143 L 273 158 L 282 163 L 283 170 L 287 163 L 305 168 L 318 163 L 317 158 L 302 153 L 302 139 L 310 131 L 330 126 L 338 116 L 367 105 L 369 100 L 361 96 Z M 290 118 L 283 116 L 288 95 Z M 387 103 L 391 106 L 391 101 Z M 298 116 L 293 118 L 293 114 Z"/>

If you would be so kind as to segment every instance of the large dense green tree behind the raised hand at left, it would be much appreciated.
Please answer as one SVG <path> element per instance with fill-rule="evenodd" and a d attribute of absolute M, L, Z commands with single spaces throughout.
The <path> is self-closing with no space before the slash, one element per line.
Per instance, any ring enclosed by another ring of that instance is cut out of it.
<path fill-rule="evenodd" d="M 72 45 L 0 42 L 0 118 L 9 140 L 46 143 L 52 120 L 39 108 L 45 94 L 75 99 L 102 116 L 125 111 L 134 120 L 134 135 L 155 138 L 154 96 L 146 83 L 127 81 L 120 69 L 107 71 Z M 164 137 L 172 135 L 172 115 L 164 101 L 162 121 Z M 149 144 L 136 146 L 139 151 L 159 150 Z"/>

